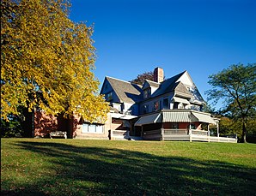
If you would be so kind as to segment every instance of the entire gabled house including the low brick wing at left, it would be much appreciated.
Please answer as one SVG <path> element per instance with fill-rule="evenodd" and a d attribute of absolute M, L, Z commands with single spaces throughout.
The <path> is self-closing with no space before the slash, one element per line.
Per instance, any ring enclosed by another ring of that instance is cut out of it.
<path fill-rule="evenodd" d="M 68 138 L 76 139 L 237 141 L 219 137 L 218 119 L 202 111 L 204 98 L 187 71 L 164 78 L 162 68 L 143 85 L 107 76 L 100 92 L 110 105 L 107 122 L 89 123 L 81 116 L 67 121 L 34 111 L 34 136 L 71 130 Z"/>

